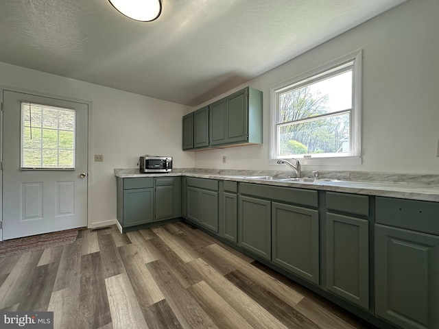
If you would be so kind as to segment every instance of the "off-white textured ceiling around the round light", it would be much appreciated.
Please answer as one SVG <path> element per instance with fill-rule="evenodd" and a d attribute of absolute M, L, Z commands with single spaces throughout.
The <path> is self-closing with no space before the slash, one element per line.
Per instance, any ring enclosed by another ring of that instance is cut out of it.
<path fill-rule="evenodd" d="M 197 106 L 404 1 L 1 0 L 0 62 Z"/>

